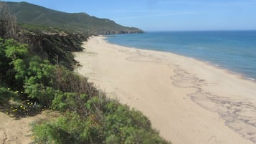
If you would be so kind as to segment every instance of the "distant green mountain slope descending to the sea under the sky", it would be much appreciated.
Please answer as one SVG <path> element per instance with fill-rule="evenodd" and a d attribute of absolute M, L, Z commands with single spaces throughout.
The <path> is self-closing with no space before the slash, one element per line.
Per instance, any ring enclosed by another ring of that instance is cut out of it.
<path fill-rule="evenodd" d="M 85 13 L 54 11 L 27 2 L 6 2 L 19 23 L 38 24 L 49 27 L 89 32 L 93 34 L 142 33 L 141 29 L 123 27 L 109 19 L 99 19 Z"/>

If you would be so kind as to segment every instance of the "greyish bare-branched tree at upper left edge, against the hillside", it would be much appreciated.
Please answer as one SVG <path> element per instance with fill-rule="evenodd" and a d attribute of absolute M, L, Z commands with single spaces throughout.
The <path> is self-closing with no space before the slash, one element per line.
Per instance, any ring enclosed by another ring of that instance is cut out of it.
<path fill-rule="evenodd" d="M 0 1 L 0 37 L 13 38 L 16 36 L 16 19 L 9 12 L 8 7 Z"/>

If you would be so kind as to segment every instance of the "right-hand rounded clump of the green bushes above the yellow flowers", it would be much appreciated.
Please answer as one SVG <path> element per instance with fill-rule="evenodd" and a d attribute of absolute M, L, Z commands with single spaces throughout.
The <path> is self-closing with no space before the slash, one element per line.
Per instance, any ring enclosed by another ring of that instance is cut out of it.
<path fill-rule="evenodd" d="M 54 97 L 54 69 L 55 67 L 48 61 L 42 61 L 39 57 L 33 57 L 26 69 L 24 92 L 29 97 L 39 100 L 42 105 L 51 105 Z"/>

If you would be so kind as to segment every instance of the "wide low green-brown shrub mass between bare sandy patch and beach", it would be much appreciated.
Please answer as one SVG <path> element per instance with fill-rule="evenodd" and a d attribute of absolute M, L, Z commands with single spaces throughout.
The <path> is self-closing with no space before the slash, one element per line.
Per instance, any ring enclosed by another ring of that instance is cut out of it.
<path fill-rule="evenodd" d="M 69 95 L 70 96 L 70 95 Z M 61 107 L 69 107 L 62 102 Z M 71 102 L 73 103 L 73 102 Z M 75 102 L 74 102 L 75 103 Z M 94 97 L 84 104 L 86 117 L 68 111 L 51 122 L 37 123 L 37 143 L 168 143 L 151 128 L 148 118 L 113 100 Z M 64 140 L 64 141 L 63 141 Z"/>

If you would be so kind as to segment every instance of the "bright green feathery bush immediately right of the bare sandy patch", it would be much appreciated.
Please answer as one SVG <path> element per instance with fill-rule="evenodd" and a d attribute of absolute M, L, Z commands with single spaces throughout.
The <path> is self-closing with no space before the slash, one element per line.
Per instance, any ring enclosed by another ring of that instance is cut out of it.
<path fill-rule="evenodd" d="M 82 120 L 75 112 L 58 117 L 54 122 L 37 124 L 33 128 L 36 143 L 100 143 L 103 129 L 92 118 Z"/>

